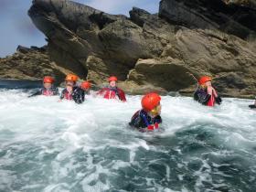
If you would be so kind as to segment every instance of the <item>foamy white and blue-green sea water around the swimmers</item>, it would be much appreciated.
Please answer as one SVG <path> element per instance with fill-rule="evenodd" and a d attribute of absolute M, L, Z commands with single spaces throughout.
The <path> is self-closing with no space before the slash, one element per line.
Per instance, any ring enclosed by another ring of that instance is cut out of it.
<path fill-rule="evenodd" d="M 161 132 L 139 133 L 127 123 L 141 96 L 78 105 L 28 94 L 0 91 L 1 192 L 256 191 L 252 101 L 165 96 Z"/>

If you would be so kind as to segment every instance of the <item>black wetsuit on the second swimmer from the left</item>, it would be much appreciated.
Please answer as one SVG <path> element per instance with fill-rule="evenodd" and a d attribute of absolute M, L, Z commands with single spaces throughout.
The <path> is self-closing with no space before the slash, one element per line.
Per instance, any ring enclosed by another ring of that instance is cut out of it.
<path fill-rule="evenodd" d="M 73 87 L 73 91 L 71 95 L 69 95 L 69 92 L 67 89 L 64 89 L 61 91 L 60 94 L 60 100 L 66 99 L 66 100 L 73 100 L 76 103 L 80 104 L 84 101 L 84 91 L 80 89 L 79 87 Z"/>

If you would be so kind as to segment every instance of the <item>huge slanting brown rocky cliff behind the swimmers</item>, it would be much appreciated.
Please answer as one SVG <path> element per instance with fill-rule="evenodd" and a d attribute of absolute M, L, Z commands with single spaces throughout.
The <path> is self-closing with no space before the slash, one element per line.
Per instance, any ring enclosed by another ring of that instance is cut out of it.
<path fill-rule="evenodd" d="M 134 7 L 130 17 L 67 0 L 34 0 L 28 15 L 47 37 L 45 67 L 53 72 L 72 71 L 99 85 L 114 74 L 133 93 L 190 94 L 190 74 L 212 76 L 223 96 L 256 92 L 253 0 L 162 0 L 158 14 Z"/>

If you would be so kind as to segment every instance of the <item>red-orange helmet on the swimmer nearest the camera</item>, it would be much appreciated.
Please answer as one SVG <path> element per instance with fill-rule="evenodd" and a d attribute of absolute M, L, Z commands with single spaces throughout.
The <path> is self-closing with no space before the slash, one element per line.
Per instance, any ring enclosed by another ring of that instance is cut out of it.
<path fill-rule="evenodd" d="M 142 99 L 142 107 L 144 111 L 150 112 L 160 103 L 161 97 L 155 92 L 144 95 Z"/>

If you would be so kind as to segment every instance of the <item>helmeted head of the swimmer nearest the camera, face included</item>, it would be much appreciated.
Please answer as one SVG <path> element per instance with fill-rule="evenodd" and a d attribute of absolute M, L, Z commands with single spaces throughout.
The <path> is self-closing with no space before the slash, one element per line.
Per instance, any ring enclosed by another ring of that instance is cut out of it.
<path fill-rule="evenodd" d="M 161 113 L 162 107 L 160 101 L 160 95 L 155 92 L 151 92 L 144 95 L 142 99 L 142 107 L 150 116 L 155 117 Z"/>

